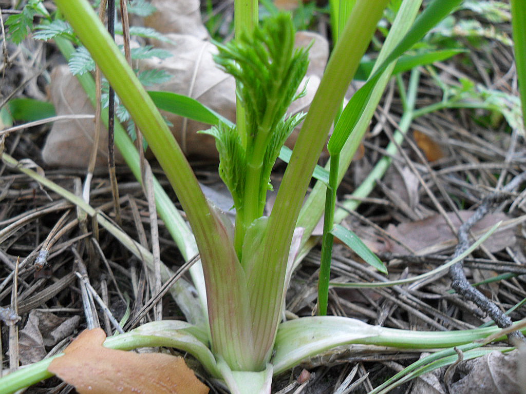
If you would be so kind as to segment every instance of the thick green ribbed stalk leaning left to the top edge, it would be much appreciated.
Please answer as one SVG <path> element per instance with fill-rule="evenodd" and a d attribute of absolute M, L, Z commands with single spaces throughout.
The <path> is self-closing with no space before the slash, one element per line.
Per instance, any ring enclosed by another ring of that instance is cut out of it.
<path fill-rule="evenodd" d="M 245 275 L 224 223 L 208 205 L 163 117 L 92 7 L 85 0 L 56 3 L 143 132 L 188 217 L 203 262 L 213 351 L 232 369 L 265 368 L 251 351 L 255 342 Z"/>

